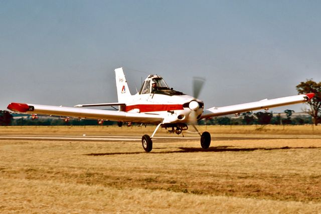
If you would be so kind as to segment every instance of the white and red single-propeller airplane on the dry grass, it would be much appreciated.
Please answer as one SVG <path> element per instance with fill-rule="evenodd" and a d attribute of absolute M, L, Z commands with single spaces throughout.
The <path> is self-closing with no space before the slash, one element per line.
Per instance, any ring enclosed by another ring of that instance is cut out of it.
<path fill-rule="evenodd" d="M 309 101 L 314 93 L 286 96 L 275 99 L 263 99 L 223 107 L 213 107 L 204 110 L 204 102 L 197 98 L 200 91 L 195 90 L 195 95 L 190 96 L 170 88 L 164 79 L 158 75 L 149 75 L 143 82 L 139 92 L 131 95 L 122 68 L 115 69 L 118 102 L 78 104 L 74 107 L 39 105 L 12 102 L 8 109 L 13 112 L 31 115 L 50 115 L 78 119 L 95 119 L 102 124 L 105 120 L 118 121 L 118 126 L 124 122 L 157 125 L 152 135 L 143 135 L 141 142 L 146 152 L 152 149 L 152 138 L 159 127 L 170 128 L 170 132 L 180 134 L 188 129 L 188 125 L 201 136 L 201 146 L 209 148 L 211 135 L 202 134 L 195 127 L 198 120 L 222 115 L 240 114 L 253 110 L 267 110 L 281 105 L 302 103 Z M 85 109 L 86 106 L 113 106 L 119 105 L 118 111 Z"/>

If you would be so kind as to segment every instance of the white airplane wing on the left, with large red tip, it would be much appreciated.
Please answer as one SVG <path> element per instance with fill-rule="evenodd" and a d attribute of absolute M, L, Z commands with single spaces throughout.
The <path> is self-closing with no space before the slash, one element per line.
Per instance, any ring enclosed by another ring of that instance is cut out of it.
<path fill-rule="evenodd" d="M 164 118 L 157 114 L 118 112 L 110 110 L 80 109 L 74 107 L 38 105 L 12 102 L 7 107 L 13 112 L 25 114 L 62 116 L 80 119 L 124 121 L 134 123 L 161 123 Z"/>

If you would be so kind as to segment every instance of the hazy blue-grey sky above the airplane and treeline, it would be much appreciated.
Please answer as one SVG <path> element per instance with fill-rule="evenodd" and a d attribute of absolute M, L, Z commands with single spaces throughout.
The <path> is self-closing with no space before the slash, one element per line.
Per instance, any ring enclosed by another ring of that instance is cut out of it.
<path fill-rule="evenodd" d="M 295 95 L 321 81 L 319 1 L 1 1 L 0 109 L 117 101 L 159 74 L 205 108 Z M 272 109 L 299 112 L 303 105 Z"/>

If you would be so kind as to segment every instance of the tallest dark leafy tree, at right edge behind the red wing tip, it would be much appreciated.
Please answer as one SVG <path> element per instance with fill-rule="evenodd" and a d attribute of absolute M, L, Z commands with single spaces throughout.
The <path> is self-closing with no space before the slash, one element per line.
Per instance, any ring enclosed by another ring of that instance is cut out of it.
<path fill-rule="evenodd" d="M 300 82 L 296 85 L 296 90 L 301 93 L 314 93 L 314 97 L 307 102 L 309 109 L 305 110 L 312 116 L 313 124 L 321 123 L 321 82 L 314 82 L 312 79 L 307 79 L 305 82 Z"/>

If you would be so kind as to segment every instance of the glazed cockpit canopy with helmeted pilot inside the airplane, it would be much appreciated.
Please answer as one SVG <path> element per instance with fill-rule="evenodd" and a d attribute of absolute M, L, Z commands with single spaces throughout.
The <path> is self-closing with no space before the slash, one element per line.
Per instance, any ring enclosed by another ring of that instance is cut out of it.
<path fill-rule="evenodd" d="M 158 75 L 149 75 L 144 83 L 141 85 L 139 94 L 144 93 L 159 93 L 165 95 L 182 95 L 182 92 L 175 91 L 173 88 L 170 88 L 164 79 Z"/>

